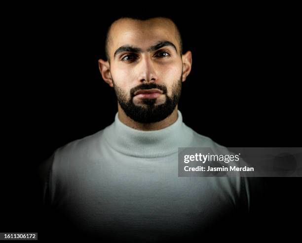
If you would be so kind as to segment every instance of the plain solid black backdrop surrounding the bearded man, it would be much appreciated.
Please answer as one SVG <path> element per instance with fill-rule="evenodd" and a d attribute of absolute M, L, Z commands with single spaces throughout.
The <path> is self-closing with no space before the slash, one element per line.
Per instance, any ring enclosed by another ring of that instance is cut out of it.
<path fill-rule="evenodd" d="M 172 7 L 158 6 L 155 14 L 174 18 L 184 51 L 192 52 L 179 103 L 184 122 L 227 147 L 301 147 L 295 6 Z M 109 24 L 123 11 L 119 4 L 9 8 L 0 232 L 38 232 L 39 240 L 55 234 L 40 207 L 37 166 L 59 146 L 113 122 L 116 99 L 98 59 L 105 58 Z M 250 233 L 299 236 L 300 186 L 301 178 L 264 178 L 247 222 Z"/>

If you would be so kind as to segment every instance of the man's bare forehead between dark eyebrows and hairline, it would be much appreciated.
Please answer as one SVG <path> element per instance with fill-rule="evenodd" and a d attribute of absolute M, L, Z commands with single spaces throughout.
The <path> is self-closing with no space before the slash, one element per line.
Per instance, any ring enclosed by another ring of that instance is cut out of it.
<path fill-rule="evenodd" d="M 178 45 L 176 28 L 172 21 L 163 18 L 150 20 L 120 19 L 113 23 L 110 31 L 112 51 L 122 45 L 147 49 L 158 40 L 167 40 Z"/>

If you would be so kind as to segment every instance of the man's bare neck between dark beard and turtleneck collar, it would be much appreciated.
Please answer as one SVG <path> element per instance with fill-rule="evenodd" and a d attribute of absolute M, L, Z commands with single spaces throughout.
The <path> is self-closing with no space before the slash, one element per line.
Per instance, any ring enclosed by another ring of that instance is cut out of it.
<path fill-rule="evenodd" d="M 153 122 L 153 123 L 140 123 L 137 121 L 132 120 L 129 116 L 126 115 L 124 110 L 120 107 L 119 104 L 117 104 L 117 110 L 118 110 L 118 119 L 127 125 L 128 127 L 131 127 L 136 130 L 141 130 L 141 131 L 154 131 L 154 130 L 159 130 L 166 128 L 173 124 L 177 118 L 178 118 L 178 105 L 176 105 L 174 111 L 166 117 L 165 119 L 159 121 L 159 122 Z"/>

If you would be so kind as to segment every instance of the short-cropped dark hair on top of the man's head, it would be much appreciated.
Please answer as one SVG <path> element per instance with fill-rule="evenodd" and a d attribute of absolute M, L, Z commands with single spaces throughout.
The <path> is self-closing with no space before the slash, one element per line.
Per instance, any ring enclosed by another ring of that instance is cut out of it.
<path fill-rule="evenodd" d="M 171 20 L 173 23 L 174 23 L 174 26 L 176 28 L 176 31 L 177 31 L 177 39 L 179 41 L 179 46 L 180 46 L 180 55 L 182 55 L 183 53 L 183 40 L 182 40 L 182 35 L 181 35 L 181 32 L 177 26 L 177 24 L 175 23 L 175 20 L 170 17 L 170 16 L 160 16 L 160 15 L 123 15 L 123 16 L 120 16 L 118 18 L 115 18 L 111 25 L 108 27 L 107 29 L 107 33 L 106 33 L 106 39 L 105 39 L 105 55 L 106 55 L 106 58 L 107 60 L 110 62 L 110 55 L 109 55 L 109 33 L 110 33 L 110 29 L 111 29 L 111 26 L 113 24 L 113 22 L 119 20 L 119 19 L 126 19 L 126 18 L 129 18 L 129 19 L 133 19 L 133 20 L 149 20 L 149 19 L 153 19 L 153 18 L 165 18 L 165 19 L 169 19 Z"/>

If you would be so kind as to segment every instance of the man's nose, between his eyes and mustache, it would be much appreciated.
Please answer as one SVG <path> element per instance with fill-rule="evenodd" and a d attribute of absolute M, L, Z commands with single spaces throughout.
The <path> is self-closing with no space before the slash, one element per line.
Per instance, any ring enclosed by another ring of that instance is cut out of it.
<path fill-rule="evenodd" d="M 139 64 L 139 81 L 140 82 L 156 82 L 157 74 L 154 63 L 149 55 L 143 56 Z"/>

